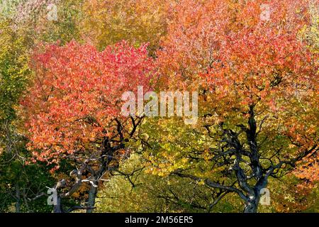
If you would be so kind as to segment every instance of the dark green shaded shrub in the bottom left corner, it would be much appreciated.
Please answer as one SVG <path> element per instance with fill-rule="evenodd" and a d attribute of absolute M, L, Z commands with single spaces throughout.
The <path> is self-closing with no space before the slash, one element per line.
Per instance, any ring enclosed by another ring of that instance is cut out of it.
<path fill-rule="evenodd" d="M 13 133 L 11 135 L 14 135 Z M 20 137 L 15 136 L 14 139 Z M 14 141 L 9 153 L 0 156 L 0 199 L 1 212 L 50 212 L 47 206 L 47 186 L 54 184 L 54 177 L 48 175 L 48 168 L 43 163 L 26 165 L 30 157 L 26 142 Z"/>

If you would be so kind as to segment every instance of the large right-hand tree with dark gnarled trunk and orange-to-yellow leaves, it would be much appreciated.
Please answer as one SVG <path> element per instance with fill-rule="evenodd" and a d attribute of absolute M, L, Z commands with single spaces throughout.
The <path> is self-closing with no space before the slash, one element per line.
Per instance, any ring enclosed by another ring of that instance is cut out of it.
<path fill-rule="evenodd" d="M 200 121 L 158 124 L 170 137 L 146 131 L 142 142 L 155 172 L 223 190 L 216 202 L 235 193 L 245 212 L 257 211 L 269 177 L 318 160 L 318 55 L 299 35 L 308 4 L 271 2 L 269 12 L 261 6 L 180 2 L 158 65 L 164 86 L 199 89 Z"/>

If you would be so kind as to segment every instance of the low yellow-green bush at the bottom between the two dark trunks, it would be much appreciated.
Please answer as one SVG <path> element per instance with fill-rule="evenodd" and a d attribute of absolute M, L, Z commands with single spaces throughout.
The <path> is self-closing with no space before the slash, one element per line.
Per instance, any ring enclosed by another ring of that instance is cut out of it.
<path fill-rule="evenodd" d="M 151 165 L 134 153 L 99 192 L 98 212 L 210 212 L 218 192 L 177 176 L 150 174 Z M 213 196 L 212 196 L 213 195 Z M 218 211 L 236 211 L 221 203 Z"/>

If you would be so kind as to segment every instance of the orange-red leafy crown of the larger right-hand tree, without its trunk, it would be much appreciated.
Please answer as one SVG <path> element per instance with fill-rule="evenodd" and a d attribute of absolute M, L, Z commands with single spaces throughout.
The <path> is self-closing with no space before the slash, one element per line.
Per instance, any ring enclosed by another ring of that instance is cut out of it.
<path fill-rule="evenodd" d="M 267 18 L 262 4 L 182 2 L 157 64 L 163 84 L 201 91 L 203 126 L 245 131 L 253 110 L 258 137 L 275 143 L 260 149 L 284 146 L 285 157 L 296 157 L 318 143 L 318 55 L 300 33 L 308 5 L 272 1 Z M 306 162 L 300 171 L 318 180 L 318 154 Z"/>

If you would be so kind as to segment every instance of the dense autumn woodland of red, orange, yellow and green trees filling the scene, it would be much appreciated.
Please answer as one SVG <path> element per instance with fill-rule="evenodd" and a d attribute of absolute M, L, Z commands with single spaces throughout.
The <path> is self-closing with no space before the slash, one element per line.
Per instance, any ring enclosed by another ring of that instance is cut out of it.
<path fill-rule="evenodd" d="M 318 6 L 0 1 L 0 211 L 318 212 Z M 198 122 L 123 117 L 138 86 Z"/>

